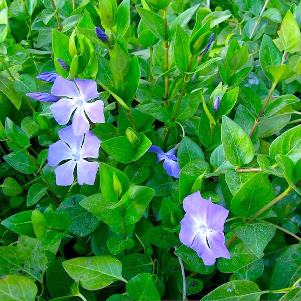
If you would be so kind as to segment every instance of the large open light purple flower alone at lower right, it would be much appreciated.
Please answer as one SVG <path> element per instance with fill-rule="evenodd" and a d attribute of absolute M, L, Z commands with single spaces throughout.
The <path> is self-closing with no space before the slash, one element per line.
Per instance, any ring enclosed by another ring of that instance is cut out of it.
<path fill-rule="evenodd" d="M 206 265 L 215 263 L 216 258 L 230 258 L 223 233 L 229 211 L 213 204 L 211 198 L 203 199 L 197 191 L 183 201 L 186 211 L 181 220 L 180 240 L 195 250 Z"/>

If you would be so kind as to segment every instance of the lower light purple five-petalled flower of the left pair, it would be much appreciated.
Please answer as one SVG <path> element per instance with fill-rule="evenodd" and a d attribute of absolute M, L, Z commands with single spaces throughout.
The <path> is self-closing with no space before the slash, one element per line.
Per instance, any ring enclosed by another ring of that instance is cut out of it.
<path fill-rule="evenodd" d="M 73 183 L 73 172 L 77 165 L 79 185 L 93 185 L 98 170 L 98 162 L 88 162 L 87 158 L 98 158 L 100 140 L 90 131 L 85 135 L 75 136 L 69 125 L 59 131 L 61 140 L 49 146 L 48 164 L 56 166 L 61 161 L 69 160 L 55 169 L 56 184 L 69 186 Z M 84 141 L 83 141 L 84 140 Z"/>

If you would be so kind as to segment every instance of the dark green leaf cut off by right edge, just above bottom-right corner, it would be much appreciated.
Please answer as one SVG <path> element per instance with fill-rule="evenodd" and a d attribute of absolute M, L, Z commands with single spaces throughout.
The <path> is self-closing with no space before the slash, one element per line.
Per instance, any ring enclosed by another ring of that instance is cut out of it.
<path fill-rule="evenodd" d="M 281 253 L 274 265 L 269 289 L 291 287 L 301 277 L 300 252 L 301 245 L 294 244 Z M 276 294 L 275 297 L 277 296 L 280 295 Z"/>

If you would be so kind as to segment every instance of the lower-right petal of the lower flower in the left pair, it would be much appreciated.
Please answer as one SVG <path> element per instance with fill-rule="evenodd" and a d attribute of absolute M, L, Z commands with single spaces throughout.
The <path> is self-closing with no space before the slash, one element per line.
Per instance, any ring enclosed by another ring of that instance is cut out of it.
<path fill-rule="evenodd" d="M 99 167 L 98 162 L 88 162 L 79 160 L 77 163 L 77 181 L 79 185 L 93 185 L 96 178 L 96 173 Z"/>

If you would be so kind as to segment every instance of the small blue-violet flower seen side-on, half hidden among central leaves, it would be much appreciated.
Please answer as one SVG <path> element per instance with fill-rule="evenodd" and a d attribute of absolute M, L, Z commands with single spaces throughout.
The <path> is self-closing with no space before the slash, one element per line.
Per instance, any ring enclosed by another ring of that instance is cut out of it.
<path fill-rule="evenodd" d="M 147 152 L 157 153 L 157 163 L 164 160 L 163 167 L 167 171 L 169 176 L 179 178 L 180 167 L 178 164 L 178 158 L 175 156 L 178 145 L 170 149 L 167 153 L 164 153 L 159 146 L 151 145 Z"/>

